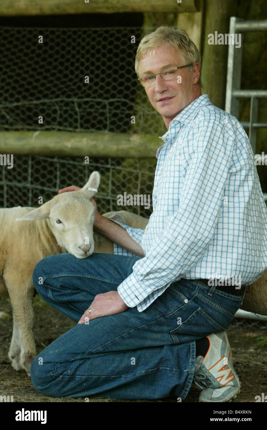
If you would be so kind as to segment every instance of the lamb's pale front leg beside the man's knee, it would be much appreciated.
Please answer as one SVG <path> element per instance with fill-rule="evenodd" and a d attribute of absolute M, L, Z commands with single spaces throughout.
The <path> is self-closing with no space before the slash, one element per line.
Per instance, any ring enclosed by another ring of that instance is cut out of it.
<path fill-rule="evenodd" d="M 14 295 L 12 292 L 14 292 Z M 24 292 L 19 289 L 12 289 L 11 291 L 9 289 L 13 307 L 13 318 L 17 321 L 21 340 L 20 366 L 22 369 L 26 370 L 29 376 L 31 362 L 36 357 L 36 347 L 33 336 L 33 292 L 33 286 Z"/>

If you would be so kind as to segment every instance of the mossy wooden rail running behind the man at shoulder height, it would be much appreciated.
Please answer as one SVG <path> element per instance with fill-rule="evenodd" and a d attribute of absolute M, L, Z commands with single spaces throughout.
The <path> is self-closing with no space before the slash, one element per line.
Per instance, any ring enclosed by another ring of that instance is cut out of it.
<path fill-rule="evenodd" d="M 151 158 L 162 144 L 158 135 L 134 133 L 0 132 L 0 153 L 14 155 Z"/>

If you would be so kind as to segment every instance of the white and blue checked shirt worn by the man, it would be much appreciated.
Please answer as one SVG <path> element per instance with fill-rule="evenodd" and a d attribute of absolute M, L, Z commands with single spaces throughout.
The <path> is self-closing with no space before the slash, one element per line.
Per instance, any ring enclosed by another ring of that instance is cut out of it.
<path fill-rule="evenodd" d="M 114 221 L 145 253 L 118 286 L 123 301 L 139 312 L 181 278 L 239 276 L 249 285 L 267 268 L 267 208 L 237 119 L 204 94 L 161 138 L 147 227 Z M 114 253 L 133 255 L 116 243 Z"/>

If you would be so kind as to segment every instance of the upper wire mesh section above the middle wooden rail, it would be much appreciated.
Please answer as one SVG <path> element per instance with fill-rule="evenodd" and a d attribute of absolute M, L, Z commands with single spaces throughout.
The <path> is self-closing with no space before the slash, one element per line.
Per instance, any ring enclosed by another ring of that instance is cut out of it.
<path fill-rule="evenodd" d="M 0 27 L 0 130 L 163 134 L 134 67 L 154 29 Z"/>

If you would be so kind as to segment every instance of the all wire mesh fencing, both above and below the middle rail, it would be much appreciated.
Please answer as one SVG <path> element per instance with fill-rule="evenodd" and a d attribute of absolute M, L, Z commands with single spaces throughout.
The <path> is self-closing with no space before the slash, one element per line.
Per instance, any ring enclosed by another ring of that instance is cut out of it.
<path fill-rule="evenodd" d="M 164 123 L 147 103 L 135 74 L 142 31 L 140 27 L 0 27 L 0 130 L 164 134 Z M 132 120 L 136 117 L 138 121 Z M 156 158 L 119 155 L 90 159 L 89 166 L 81 157 L 14 156 L 13 169 L 3 166 L 0 207 L 36 206 L 39 196 L 45 202 L 59 188 L 83 186 L 90 172 L 98 170 L 99 212 L 129 210 L 117 206 L 117 195 L 152 197 Z M 150 209 L 131 210 L 149 217 L 152 204 Z"/>

